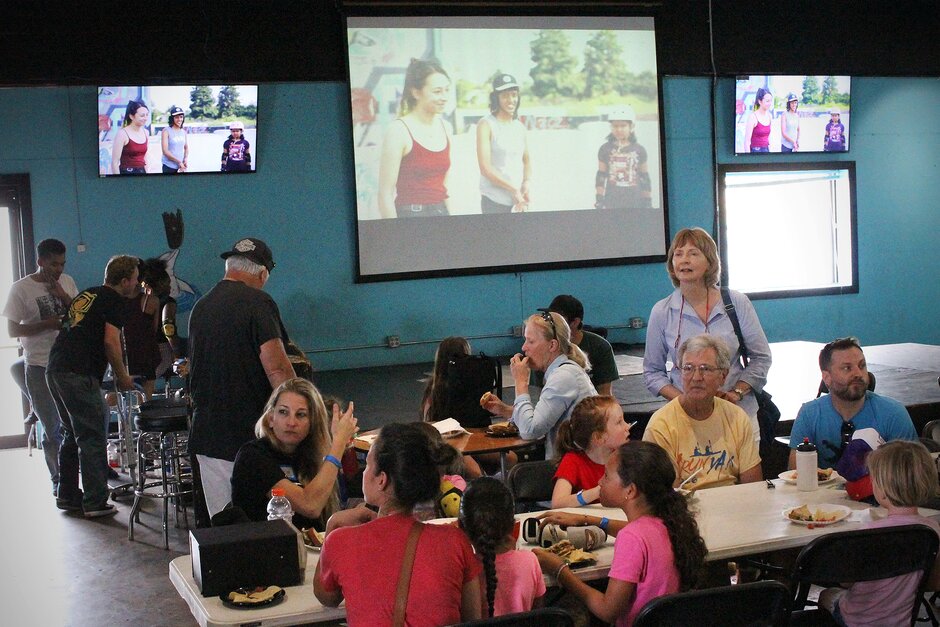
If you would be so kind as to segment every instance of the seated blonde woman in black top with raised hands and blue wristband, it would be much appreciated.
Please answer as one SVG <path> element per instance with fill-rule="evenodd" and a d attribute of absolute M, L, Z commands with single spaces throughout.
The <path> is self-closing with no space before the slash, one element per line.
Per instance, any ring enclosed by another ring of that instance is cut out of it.
<path fill-rule="evenodd" d="M 339 509 L 340 460 L 356 433 L 350 403 L 332 407 L 310 381 L 288 379 L 268 399 L 255 424 L 258 439 L 242 445 L 232 470 L 232 504 L 250 520 L 266 520 L 273 488 L 283 488 L 294 510 L 294 525 L 323 529 Z"/>

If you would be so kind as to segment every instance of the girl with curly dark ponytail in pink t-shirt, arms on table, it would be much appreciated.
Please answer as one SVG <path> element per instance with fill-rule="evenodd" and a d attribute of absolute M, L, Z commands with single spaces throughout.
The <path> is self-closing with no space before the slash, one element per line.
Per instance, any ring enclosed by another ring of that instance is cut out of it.
<path fill-rule="evenodd" d="M 535 549 L 542 571 L 554 575 L 592 614 L 618 627 L 632 625 L 652 599 L 691 587 L 707 551 L 685 498 L 672 488 L 675 478 L 672 462 L 659 446 L 621 446 L 607 460 L 600 497 L 604 506 L 622 508 L 627 522 L 559 512 L 543 519 L 562 526 L 595 524 L 617 536 L 606 592 L 578 579 L 561 557 Z"/>

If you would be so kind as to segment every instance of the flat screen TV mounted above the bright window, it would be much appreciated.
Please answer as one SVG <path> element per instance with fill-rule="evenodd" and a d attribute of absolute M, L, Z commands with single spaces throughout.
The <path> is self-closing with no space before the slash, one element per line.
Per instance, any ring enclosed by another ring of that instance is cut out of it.
<path fill-rule="evenodd" d="M 847 152 L 852 117 L 848 76 L 739 76 L 734 152 Z"/>

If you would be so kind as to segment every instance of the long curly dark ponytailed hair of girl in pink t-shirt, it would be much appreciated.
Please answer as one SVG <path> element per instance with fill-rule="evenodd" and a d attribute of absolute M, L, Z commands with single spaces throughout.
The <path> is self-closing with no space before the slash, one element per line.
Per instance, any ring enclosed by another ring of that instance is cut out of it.
<path fill-rule="evenodd" d="M 646 497 L 654 516 L 663 521 L 672 543 L 676 569 L 683 590 L 699 576 L 708 549 L 685 497 L 672 485 L 676 471 L 669 455 L 652 442 L 631 441 L 620 447 L 617 474 L 623 485 L 633 484 Z"/>

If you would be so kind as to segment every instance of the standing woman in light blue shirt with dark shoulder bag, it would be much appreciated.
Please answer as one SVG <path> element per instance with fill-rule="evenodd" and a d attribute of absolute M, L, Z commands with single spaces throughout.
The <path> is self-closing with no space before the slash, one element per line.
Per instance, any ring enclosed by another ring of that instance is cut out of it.
<path fill-rule="evenodd" d="M 681 394 L 682 373 L 677 366 L 667 370 L 666 362 L 679 363 L 679 345 L 687 338 L 703 333 L 716 335 L 725 341 L 733 356 L 718 397 L 740 405 L 751 418 L 755 439 L 760 438 L 753 392 L 764 388 L 771 358 L 754 306 L 744 294 L 728 290 L 750 357 L 745 368 L 738 359 L 740 343 L 718 288 L 721 260 L 715 240 L 703 229 L 682 229 L 666 253 L 666 272 L 676 289 L 650 311 L 643 355 L 646 389 L 667 400 Z"/>

